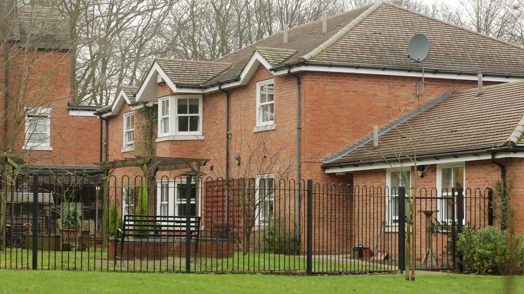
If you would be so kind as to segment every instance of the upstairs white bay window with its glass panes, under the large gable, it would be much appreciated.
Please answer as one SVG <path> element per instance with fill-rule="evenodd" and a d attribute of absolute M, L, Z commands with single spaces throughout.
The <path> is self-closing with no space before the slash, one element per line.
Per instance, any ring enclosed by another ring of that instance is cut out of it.
<path fill-rule="evenodd" d="M 158 137 L 202 134 L 202 96 L 172 96 L 159 100 Z"/>

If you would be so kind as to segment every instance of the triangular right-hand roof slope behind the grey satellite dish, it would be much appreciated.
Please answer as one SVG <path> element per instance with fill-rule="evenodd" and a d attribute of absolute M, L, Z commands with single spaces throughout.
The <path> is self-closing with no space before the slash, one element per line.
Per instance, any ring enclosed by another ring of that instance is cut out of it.
<path fill-rule="evenodd" d="M 420 67 L 407 57 L 407 44 L 419 32 L 431 43 L 425 60 L 428 70 L 524 74 L 523 48 L 389 4 L 380 5 L 343 36 L 304 57 L 320 62 Z"/>

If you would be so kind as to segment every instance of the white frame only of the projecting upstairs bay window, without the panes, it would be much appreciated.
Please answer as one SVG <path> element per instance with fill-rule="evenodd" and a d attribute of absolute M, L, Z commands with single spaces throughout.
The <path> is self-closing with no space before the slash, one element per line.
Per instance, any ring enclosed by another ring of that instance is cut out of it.
<path fill-rule="evenodd" d="M 181 99 L 199 99 L 199 113 L 198 114 L 178 114 L 178 100 Z M 162 101 L 169 100 L 169 109 L 168 115 L 162 116 Z M 178 131 L 178 120 L 182 116 L 198 116 L 198 131 Z M 168 119 L 168 132 L 162 131 L 162 119 Z M 201 136 L 202 135 L 202 121 L 203 121 L 203 99 L 202 95 L 176 95 L 168 96 L 158 100 L 158 137 L 167 137 L 167 136 L 187 136 L 184 139 L 191 139 L 191 136 Z M 196 138 L 195 138 L 196 139 Z"/>

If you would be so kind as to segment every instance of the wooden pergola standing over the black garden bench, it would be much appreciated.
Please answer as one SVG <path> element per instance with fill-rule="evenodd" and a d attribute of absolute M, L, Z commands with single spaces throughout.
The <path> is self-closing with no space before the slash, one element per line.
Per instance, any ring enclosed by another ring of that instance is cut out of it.
<path fill-rule="evenodd" d="M 179 169 L 190 169 L 190 171 L 184 172 L 183 175 L 186 176 L 200 176 L 204 175 L 200 171 L 200 167 L 204 166 L 209 162 L 209 159 L 199 159 L 199 158 L 188 158 L 188 157 L 161 157 L 161 156 L 143 156 L 136 155 L 135 157 L 124 157 L 124 159 L 111 160 L 111 161 L 102 161 L 95 163 L 103 169 L 105 175 L 105 185 L 104 185 L 104 199 L 103 199 L 103 223 L 109 219 L 108 215 L 108 178 L 117 168 L 123 167 L 138 167 L 144 172 L 144 179 L 151 180 L 156 178 L 158 172 L 165 171 L 176 171 Z M 150 187 L 154 187 L 155 183 L 147 183 L 148 190 Z M 198 181 L 196 181 L 196 189 L 198 189 Z M 148 193 L 148 214 L 155 215 L 155 194 Z M 102 235 L 105 236 L 105 225 L 102 227 Z M 105 240 L 105 238 L 103 238 Z M 105 246 L 105 244 L 103 244 Z"/>

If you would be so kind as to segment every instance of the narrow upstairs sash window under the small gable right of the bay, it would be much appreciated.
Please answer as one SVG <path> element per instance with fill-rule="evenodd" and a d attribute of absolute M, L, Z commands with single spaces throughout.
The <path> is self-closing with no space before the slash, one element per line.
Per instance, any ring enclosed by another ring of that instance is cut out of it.
<path fill-rule="evenodd" d="M 275 83 L 273 80 L 257 83 L 257 127 L 275 123 Z"/>

